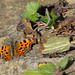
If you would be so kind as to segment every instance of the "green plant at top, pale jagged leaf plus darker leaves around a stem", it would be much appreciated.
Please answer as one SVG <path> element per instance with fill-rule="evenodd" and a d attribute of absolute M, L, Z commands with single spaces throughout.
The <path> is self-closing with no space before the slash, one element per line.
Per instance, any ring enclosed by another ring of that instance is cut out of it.
<path fill-rule="evenodd" d="M 39 9 L 40 2 L 37 1 L 36 3 L 34 2 L 29 2 L 26 5 L 26 10 L 22 14 L 23 18 L 27 18 L 30 21 L 36 22 L 38 20 L 38 17 L 41 17 L 41 21 L 44 21 L 47 23 L 49 27 L 51 27 L 54 24 L 55 19 L 58 18 L 57 15 L 55 15 L 53 12 L 49 13 L 48 10 L 46 10 L 45 16 L 42 16 L 41 14 L 37 13 L 37 10 Z"/>

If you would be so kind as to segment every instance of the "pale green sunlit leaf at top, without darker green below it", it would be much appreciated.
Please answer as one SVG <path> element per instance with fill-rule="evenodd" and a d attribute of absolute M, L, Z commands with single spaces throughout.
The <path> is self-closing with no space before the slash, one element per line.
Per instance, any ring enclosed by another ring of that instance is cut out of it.
<path fill-rule="evenodd" d="M 40 2 L 28 2 L 26 6 L 26 10 L 22 14 L 22 17 L 29 18 L 31 15 L 35 14 L 40 6 Z"/>

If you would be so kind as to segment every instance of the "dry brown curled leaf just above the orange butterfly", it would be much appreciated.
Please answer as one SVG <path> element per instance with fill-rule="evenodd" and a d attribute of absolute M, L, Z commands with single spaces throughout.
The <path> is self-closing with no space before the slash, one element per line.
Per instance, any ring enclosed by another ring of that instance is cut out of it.
<path fill-rule="evenodd" d="M 35 27 L 31 25 L 31 22 L 21 18 L 21 21 L 17 25 L 17 31 L 23 31 L 23 36 L 26 37 L 34 37 L 37 39 L 38 43 L 40 42 L 40 34 L 35 31 Z"/>

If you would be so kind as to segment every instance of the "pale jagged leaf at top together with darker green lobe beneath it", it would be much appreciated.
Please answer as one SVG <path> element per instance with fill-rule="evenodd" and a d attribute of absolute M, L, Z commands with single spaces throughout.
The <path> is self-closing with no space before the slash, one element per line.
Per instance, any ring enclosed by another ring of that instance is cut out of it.
<path fill-rule="evenodd" d="M 38 20 L 38 17 L 40 16 L 39 14 L 36 14 L 38 8 L 40 6 L 40 2 L 28 2 L 26 5 L 26 10 L 22 14 L 22 17 L 28 18 L 29 20 L 35 22 Z"/>

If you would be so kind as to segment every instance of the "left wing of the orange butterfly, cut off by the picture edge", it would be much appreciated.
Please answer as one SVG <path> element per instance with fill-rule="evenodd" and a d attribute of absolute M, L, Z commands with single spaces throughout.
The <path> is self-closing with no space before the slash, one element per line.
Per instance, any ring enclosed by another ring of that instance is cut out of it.
<path fill-rule="evenodd" d="M 0 47 L 0 58 L 5 60 L 11 60 L 9 46 Z"/>

